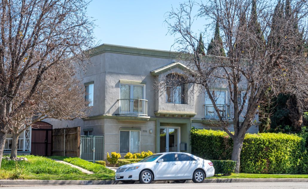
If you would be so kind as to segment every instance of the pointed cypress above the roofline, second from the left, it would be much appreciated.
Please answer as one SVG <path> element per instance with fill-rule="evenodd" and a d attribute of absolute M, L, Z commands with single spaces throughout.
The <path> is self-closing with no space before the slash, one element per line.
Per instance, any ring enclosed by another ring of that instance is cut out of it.
<path fill-rule="evenodd" d="M 224 57 L 226 56 L 225 49 L 223 48 L 223 43 L 220 36 L 218 22 L 216 22 L 214 38 L 211 39 L 211 42 L 207 49 L 207 54 Z"/>

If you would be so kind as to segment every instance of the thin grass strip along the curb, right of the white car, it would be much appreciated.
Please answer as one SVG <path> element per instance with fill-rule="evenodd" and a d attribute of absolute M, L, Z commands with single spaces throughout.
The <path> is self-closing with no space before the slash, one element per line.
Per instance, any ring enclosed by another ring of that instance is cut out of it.
<path fill-rule="evenodd" d="M 276 175 L 276 174 L 250 174 L 250 173 L 231 173 L 229 176 L 219 175 L 207 179 L 308 179 L 308 175 Z"/>

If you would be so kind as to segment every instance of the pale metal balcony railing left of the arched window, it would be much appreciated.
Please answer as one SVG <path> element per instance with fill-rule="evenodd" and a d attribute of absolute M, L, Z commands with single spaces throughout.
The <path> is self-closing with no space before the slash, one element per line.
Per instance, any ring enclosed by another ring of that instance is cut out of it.
<path fill-rule="evenodd" d="M 148 100 L 119 99 L 120 115 L 148 116 Z"/>

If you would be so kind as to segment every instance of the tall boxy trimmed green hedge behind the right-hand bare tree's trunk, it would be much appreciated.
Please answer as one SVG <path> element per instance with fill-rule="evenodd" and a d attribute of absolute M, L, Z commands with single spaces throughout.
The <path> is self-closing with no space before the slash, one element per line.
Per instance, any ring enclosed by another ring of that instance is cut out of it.
<path fill-rule="evenodd" d="M 192 153 L 205 159 L 231 159 L 233 141 L 222 131 L 191 130 Z M 307 174 L 305 140 L 282 133 L 246 134 L 240 171 L 244 173 Z"/>

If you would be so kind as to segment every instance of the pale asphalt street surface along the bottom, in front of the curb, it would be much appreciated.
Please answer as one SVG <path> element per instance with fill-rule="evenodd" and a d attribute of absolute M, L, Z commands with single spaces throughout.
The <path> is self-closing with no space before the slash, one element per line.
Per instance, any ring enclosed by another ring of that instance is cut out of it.
<path fill-rule="evenodd" d="M 6 189 L 124 189 L 124 188 L 132 188 L 132 189 L 176 189 L 176 188 L 183 188 L 183 189 L 203 189 L 203 188 L 211 188 L 211 189 L 308 189 L 308 183 L 307 182 L 298 182 L 298 183 L 292 183 L 292 182 L 254 182 L 254 183 L 184 183 L 184 184 L 117 184 L 117 185 L 86 185 L 86 186 L 36 186 L 36 187 L 5 187 Z"/>

